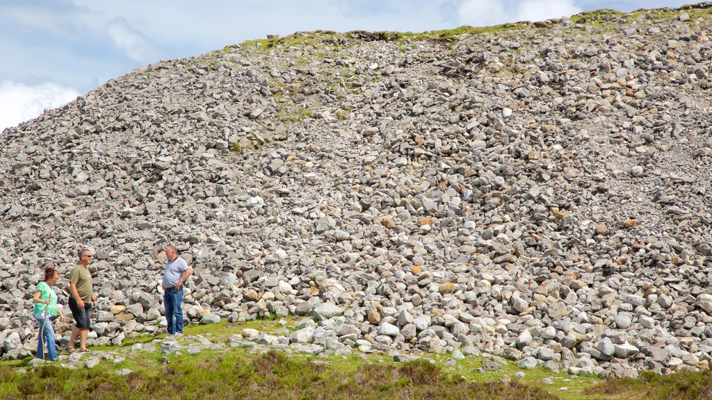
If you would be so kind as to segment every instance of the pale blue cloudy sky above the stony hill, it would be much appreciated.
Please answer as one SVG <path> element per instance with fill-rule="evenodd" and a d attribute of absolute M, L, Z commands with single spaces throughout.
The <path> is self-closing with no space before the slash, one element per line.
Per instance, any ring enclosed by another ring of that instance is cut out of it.
<path fill-rule="evenodd" d="M 423 32 L 678 0 L 0 0 L 0 131 L 159 60 L 318 29 Z"/>

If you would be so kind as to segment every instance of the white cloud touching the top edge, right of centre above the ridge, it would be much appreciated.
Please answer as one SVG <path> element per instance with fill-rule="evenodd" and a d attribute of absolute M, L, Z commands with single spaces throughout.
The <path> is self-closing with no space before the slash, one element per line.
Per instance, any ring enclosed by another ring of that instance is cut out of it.
<path fill-rule="evenodd" d="M 543 21 L 581 11 L 574 0 L 465 0 L 457 13 L 461 23 L 489 26 L 516 21 Z"/>

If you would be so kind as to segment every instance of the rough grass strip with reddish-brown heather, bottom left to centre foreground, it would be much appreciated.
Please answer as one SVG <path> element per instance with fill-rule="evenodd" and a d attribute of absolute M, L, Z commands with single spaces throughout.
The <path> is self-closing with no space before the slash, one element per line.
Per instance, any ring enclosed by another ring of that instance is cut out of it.
<path fill-rule="evenodd" d="M 106 369 L 42 366 L 26 374 L 0 367 L 3 399 L 556 399 L 518 382 L 467 382 L 425 361 L 361 362 L 334 371 L 277 352 L 185 357 L 117 376 Z"/>

